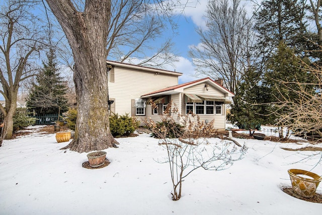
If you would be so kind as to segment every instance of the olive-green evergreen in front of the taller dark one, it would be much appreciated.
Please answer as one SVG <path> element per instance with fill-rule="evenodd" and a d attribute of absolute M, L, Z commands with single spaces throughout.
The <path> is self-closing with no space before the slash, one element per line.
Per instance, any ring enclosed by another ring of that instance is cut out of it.
<path fill-rule="evenodd" d="M 300 58 L 294 53 L 294 49 L 286 46 L 282 41 L 277 51 L 267 62 L 267 71 L 264 75 L 263 85 L 270 89 L 270 110 L 278 121 L 281 113 L 288 112 L 288 108 L 281 107 L 285 100 L 298 100 L 298 92 L 302 88 L 298 83 L 314 83 L 314 77 L 303 66 L 307 64 L 307 58 Z M 305 86 L 312 91 L 313 85 Z M 278 126 L 283 127 L 278 123 Z M 282 129 L 280 138 L 284 137 Z"/>

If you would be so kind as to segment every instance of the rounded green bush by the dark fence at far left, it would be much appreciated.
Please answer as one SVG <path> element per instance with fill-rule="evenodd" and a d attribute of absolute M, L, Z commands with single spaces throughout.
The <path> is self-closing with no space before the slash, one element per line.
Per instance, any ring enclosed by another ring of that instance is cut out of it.
<path fill-rule="evenodd" d="M 36 123 L 36 118 L 28 116 L 26 108 L 17 108 L 13 117 L 14 131 L 23 129 Z"/>

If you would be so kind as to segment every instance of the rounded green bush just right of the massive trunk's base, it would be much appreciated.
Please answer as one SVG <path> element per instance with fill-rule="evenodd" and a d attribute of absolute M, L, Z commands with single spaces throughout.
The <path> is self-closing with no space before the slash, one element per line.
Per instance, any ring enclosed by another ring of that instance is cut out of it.
<path fill-rule="evenodd" d="M 135 117 L 130 117 L 128 114 L 110 116 L 110 130 L 114 137 L 129 136 L 139 124 L 140 122 Z"/>

